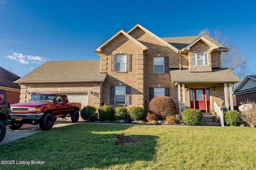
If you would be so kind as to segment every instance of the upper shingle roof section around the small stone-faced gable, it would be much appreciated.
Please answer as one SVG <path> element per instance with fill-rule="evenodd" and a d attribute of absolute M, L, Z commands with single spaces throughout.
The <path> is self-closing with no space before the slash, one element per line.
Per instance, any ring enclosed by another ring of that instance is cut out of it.
<path fill-rule="evenodd" d="M 188 37 L 164 37 L 164 38 L 161 38 L 161 39 L 163 39 L 164 41 L 166 41 L 170 45 L 172 45 L 172 46 L 174 46 L 174 47 L 176 47 L 177 49 L 180 50 L 180 49 L 183 49 L 184 47 L 187 47 L 188 45 L 190 45 L 193 41 L 195 41 L 199 37 L 200 37 L 200 35 L 188 36 Z M 226 49 L 226 47 L 224 45 L 222 45 L 218 41 L 214 40 L 209 35 L 202 35 L 202 37 L 204 37 L 208 41 L 214 43 L 218 47 Z"/>

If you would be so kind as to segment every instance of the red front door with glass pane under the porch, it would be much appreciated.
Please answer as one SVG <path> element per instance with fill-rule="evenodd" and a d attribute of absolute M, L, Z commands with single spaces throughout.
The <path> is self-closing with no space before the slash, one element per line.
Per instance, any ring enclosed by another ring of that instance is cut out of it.
<path fill-rule="evenodd" d="M 206 99 L 205 99 L 205 89 L 194 89 L 195 92 L 195 109 L 206 112 Z"/>

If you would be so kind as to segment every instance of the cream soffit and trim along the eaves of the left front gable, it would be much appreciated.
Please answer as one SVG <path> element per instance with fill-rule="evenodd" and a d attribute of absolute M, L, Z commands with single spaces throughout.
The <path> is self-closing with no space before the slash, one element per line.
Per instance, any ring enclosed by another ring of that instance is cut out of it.
<path fill-rule="evenodd" d="M 128 33 L 124 32 L 122 29 L 120 29 L 120 31 L 118 31 L 117 33 L 115 33 L 112 37 L 110 37 L 107 41 L 105 41 L 104 43 L 102 43 L 102 45 L 100 45 L 99 47 L 97 47 L 94 51 L 100 55 L 102 52 L 102 49 L 104 47 L 106 47 L 106 45 L 108 45 L 109 43 L 111 43 L 114 39 L 116 39 L 116 37 L 118 37 L 119 35 L 124 35 L 126 36 L 128 39 L 132 40 L 134 43 L 136 43 L 138 46 L 140 46 L 143 51 L 147 51 L 148 48 L 143 45 L 142 43 L 140 43 L 139 41 L 137 41 L 136 39 L 134 39 L 132 36 L 130 36 Z"/>

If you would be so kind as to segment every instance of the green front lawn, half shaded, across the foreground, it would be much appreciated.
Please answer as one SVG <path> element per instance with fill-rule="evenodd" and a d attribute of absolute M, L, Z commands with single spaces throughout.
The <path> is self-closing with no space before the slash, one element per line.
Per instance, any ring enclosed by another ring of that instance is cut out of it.
<path fill-rule="evenodd" d="M 248 170 L 256 168 L 255 134 L 248 127 L 75 124 L 1 145 L 0 160 L 15 163 L 0 169 Z"/>

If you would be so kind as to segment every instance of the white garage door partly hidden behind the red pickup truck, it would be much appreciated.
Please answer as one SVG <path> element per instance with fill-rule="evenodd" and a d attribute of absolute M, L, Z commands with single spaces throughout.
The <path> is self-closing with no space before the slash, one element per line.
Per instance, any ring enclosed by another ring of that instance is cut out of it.
<path fill-rule="evenodd" d="M 82 108 L 88 104 L 88 93 L 66 93 L 68 102 L 77 102 L 82 104 Z"/>

